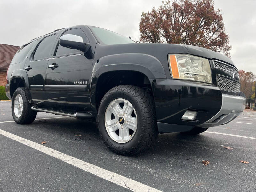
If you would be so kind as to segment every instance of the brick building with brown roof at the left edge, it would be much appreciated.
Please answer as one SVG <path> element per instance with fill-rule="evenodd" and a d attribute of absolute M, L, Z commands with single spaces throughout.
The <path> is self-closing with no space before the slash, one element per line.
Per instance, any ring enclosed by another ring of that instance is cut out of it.
<path fill-rule="evenodd" d="M 0 86 L 6 85 L 7 69 L 20 47 L 0 43 Z"/>

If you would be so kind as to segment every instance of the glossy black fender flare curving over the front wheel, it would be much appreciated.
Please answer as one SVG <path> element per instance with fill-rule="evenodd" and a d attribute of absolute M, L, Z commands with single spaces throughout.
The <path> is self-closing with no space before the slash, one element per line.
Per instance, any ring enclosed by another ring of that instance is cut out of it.
<path fill-rule="evenodd" d="M 151 55 L 124 53 L 104 56 L 97 60 L 92 69 L 90 101 L 95 112 L 97 111 L 95 94 L 98 79 L 110 71 L 136 71 L 144 74 L 148 79 L 166 79 L 161 62 Z"/>

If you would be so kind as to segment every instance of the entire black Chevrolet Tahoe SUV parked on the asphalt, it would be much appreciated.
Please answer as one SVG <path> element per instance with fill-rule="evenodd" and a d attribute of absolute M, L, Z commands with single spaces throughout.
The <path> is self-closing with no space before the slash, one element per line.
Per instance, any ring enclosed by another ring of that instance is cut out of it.
<path fill-rule="evenodd" d="M 245 108 L 238 70 L 201 47 L 136 43 L 78 25 L 20 47 L 7 72 L 12 116 L 29 124 L 47 112 L 98 122 L 112 151 L 134 155 L 159 133 L 198 134 Z"/>

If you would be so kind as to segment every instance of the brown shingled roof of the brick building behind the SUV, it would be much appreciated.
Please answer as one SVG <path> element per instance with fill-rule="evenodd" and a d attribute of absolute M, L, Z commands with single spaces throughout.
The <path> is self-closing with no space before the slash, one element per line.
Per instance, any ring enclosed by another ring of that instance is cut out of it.
<path fill-rule="evenodd" d="M 7 71 L 13 56 L 19 49 L 18 46 L 0 43 L 0 71 Z"/>

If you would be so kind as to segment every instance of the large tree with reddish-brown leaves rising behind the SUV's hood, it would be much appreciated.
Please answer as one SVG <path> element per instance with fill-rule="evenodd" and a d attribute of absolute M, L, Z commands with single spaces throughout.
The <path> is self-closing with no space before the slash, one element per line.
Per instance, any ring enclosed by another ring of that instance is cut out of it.
<path fill-rule="evenodd" d="M 163 1 L 158 9 L 142 12 L 139 27 L 141 42 L 195 45 L 230 57 L 229 36 L 213 0 Z"/>

